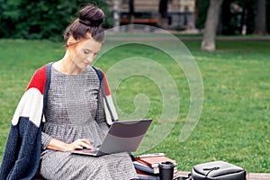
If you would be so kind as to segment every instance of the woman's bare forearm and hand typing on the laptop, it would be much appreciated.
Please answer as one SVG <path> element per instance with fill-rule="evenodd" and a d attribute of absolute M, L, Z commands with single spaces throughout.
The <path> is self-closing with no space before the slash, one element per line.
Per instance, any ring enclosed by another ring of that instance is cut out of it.
<path fill-rule="evenodd" d="M 71 151 L 77 148 L 89 148 L 94 149 L 88 139 L 76 139 L 74 142 L 67 144 L 58 139 L 51 139 L 47 148 L 59 150 L 59 151 Z"/>

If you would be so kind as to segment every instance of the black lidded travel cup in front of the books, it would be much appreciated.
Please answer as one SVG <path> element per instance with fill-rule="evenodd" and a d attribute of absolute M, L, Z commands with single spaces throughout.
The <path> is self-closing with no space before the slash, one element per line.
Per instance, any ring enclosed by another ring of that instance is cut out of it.
<path fill-rule="evenodd" d="M 175 164 L 170 161 L 159 163 L 159 179 L 172 180 L 174 178 L 174 168 Z"/>

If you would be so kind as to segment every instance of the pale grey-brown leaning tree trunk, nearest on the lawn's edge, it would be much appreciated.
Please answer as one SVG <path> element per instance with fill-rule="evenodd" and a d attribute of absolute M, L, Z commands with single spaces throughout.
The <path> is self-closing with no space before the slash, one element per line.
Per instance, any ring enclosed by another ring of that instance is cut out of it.
<path fill-rule="evenodd" d="M 202 39 L 202 50 L 214 51 L 216 49 L 216 33 L 220 19 L 220 6 L 223 0 L 211 0 L 208 7 L 205 28 Z"/>

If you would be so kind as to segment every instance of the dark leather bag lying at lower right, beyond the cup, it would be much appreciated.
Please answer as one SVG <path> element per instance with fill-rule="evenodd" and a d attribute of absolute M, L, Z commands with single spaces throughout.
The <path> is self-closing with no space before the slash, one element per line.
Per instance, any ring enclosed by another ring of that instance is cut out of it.
<path fill-rule="evenodd" d="M 213 161 L 193 166 L 193 180 L 246 180 L 246 170 L 224 161 Z"/>

